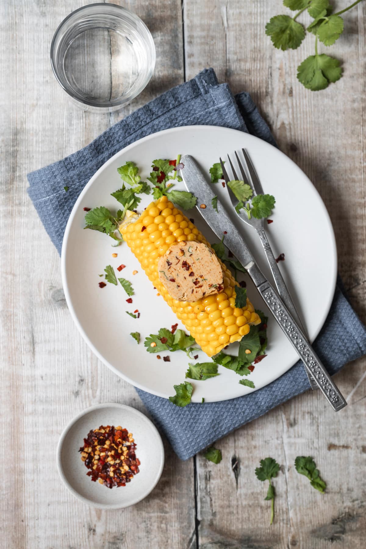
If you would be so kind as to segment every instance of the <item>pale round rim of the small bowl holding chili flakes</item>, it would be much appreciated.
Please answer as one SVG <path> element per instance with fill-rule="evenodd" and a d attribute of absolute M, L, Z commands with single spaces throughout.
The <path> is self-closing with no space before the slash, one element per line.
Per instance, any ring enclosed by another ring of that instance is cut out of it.
<path fill-rule="evenodd" d="M 121 410 L 132 410 L 133 413 L 137 414 L 137 416 L 140 416 L 143 418 L 144 421 L 146 421 L 148 424 L 150 424 L 151 430 L 157 435 L 157 441 L 159 442 L 160 446 L 160 467 L 159 471 L 156 475 L 156 479 L 154 484 L 151 486 L 149 491 L 147 491 L 143 496 L 141 497 L 135 497 L 131 498 L 131 500 L 128 502 L 128 505 L 123 505 L 122 503 L 96 503 L 93 500 L 90 500 L 88 497 L 82 496 L 80 492 L 78 492 L 72 484 L 70 484 L 69 480 L 67 480 L 66 475 L 64 473 L 63 464 L 61 462 L 61 451 L 63 449 L 64 441 L 66 438 L 67 433 L 69 433 L 71 427 L 75 425 L 81 419 L 83 416 L 86 416 L 88 413 L 93 412 L 95 410 L 100 410 L 101 408 L 120 408 Z M 75 496 L 78 500 L 81 500 L 83 503 L 86 503 L 87 505 L 91 507 L 95 507 L 97 509 L 122 509 L 126 507 L 131 507 L 132 505 L 136 505 L 139 501 L 142 501 L 145 497 L 147 497 L 155 488 L 157 483 L 160 480 L 162 470 L 164 469 L 164 463 L 165 463 L 165 451 L 164 451 L 164 444 L 162 442 L 161 436 L 157 428 L 155 427 L 154 423 L 151 421 L 151 419 L 148 418 L 143 412 L 140 412 L 137 410 L 137 408 L 134 408 L 133 406 L 128 406 L 127 404 L 120 404 L 119 402 L 105 402 L 102 404 L 95 404 L 94 406 L 90 406 L 89 408 L 86 408 L 85 410 L 82 410 L 80 413 L 78 413 L 74 418 L 71 419 L 71 421 L 66 425 L 63 432 L 61 433 L 58 446 L 57 446 L 57 470 L 59 472 L 59 475 L 61 479 L 64 481 L 64 484 L 66 488 L 71 492 L 73 496 Z"/>

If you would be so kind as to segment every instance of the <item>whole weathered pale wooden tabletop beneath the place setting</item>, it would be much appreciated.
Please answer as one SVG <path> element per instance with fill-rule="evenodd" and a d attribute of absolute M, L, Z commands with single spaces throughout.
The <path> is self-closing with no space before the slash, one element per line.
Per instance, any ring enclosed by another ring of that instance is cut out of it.
<path fill-rule="evenodd" d="M 74 107 L 49 63 L 54 30 L 85 3 L 0 3 L 0 546 L 365 547 L 365 360 L 336 376 L 348 400 L 345 410 L 335 415 L 319 394 L 301 395 L 219 441 L 218 466 L 201 455 L 179 461 L 165 444 L 160 483 L 132 508 L 98 511 L 69 494 L 55 465 L 65 424 L 98 402 L 143 406 L 133 387 L 103 366 L 78 334 L 65 304 L 58 254 L 26 194 L 26 173 L 81 148 L 165 89 L 213 66 L 234 92 L 251 93 L 281 150 L 322 195 L 340 274 L 365 321 L 366 3 L 345 14 L 344 35 L 331 48 L 344 60 L 344 77 L 310 92 L 297 82 L 296 66 L 313 53 L 314 39 L 281 52 L 264 34 L 269 18 L 286 11 L 280 0 L 121 2 L 153 33 L 157 62 L 141 96 L 112 115 Z M 339 0 L 336 7 L 348 3 Z M 325 495 L 295 471 L 294 458 L 309 454 L 328 483 Z M 254 475 L 266 456 L 281 463 L 272 526 L 266 489 Z"/>

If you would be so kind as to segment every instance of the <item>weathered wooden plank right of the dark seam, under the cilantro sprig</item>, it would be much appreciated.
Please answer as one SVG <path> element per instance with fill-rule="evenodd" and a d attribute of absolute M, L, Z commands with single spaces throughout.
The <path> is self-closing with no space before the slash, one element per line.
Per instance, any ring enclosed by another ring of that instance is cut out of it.
<path fill-rule="evenodd" d="M 345 7 L 337 2 L 336 9 Z M 313 54 L 314 38 L 296 51 L 272 47 L 264 33 L 282 3 L 214 0 L 184 2 L 187 78 L 213 66 L 233 92 L 251 93 L 281 150 L 311 178 L 333 221 L 339 270 L 352 305 L 365 320 L 365 29 L 366 7 L 344 15 L 345 32 L 329 54 L 344 60 L 344 77 L 322 92 L 296 80 L 296 67 Z M 309 20 L 303 14 L 299 20 Z M 322 52 L 328 53 L 325 47 Z M 311 215 L 309 214 L 309 222 Z M 337 374 L 348 407 L 337 416 L 307 393 L 217 443 L 219 466 L 197 458 L 199 542 L 202 547 L 364 546 L 365 360 Z M 348 447 L 350 446 L 350 447 Z M 328 481 L 328 495 L 294 469 L 296 455 L 311 454 Z M 276 518 L 268 525 L 266 490 L 254 474 L 261 458 L 275 457 L 281 473 Z M 240 463 L 236 481 L 232 462 Z M 339 471 L 347 472 L 345 478 Z"/>

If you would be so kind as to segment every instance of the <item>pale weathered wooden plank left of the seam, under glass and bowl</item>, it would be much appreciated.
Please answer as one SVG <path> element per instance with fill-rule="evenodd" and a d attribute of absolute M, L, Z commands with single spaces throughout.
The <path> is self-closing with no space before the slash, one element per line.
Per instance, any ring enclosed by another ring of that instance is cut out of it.
<path fill-rule="evenodd" d="M 59 257 L 26 194 L 26 173 L 86 145 L 183 79 L 181 2 L 121 2 L 153 31 L 154 78 L 113 115 L 75 107 L 52 74 L 49 46 L 60 21 L 86 3 L 0 5 L 1 545 L 135 548 L 149 540 L 150 547 L 190 547 L 193 463 L 179 461 L 167 444 L 159 485 L 123 511 L 98 511 L 75 500 L 55 464 L 61 431 L 84 408 L 111 401 L 143 406 L 132 386 L 103 366 L 78 334 L 61 287 Z"/>

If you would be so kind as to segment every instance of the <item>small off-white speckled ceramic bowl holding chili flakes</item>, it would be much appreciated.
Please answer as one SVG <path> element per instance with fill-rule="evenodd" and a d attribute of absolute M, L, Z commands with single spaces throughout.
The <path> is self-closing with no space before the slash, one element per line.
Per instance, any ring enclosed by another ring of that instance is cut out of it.
<path fill-rule="evenodd" d="M 112 489 L 93 482 L 78 451 L 91 429 L 99 425 L 121 425 L 133 434 L 139 473 L 126 486 Z M 124 404 L 98 404 L 81 412 L 67 425 L 57 449 L 57 467 L 70 492 L 99 509 L 120 509 L 143 500 L 160 479 L 164 467 L 164 446 L 159 432 L 143 413 Z"/>

